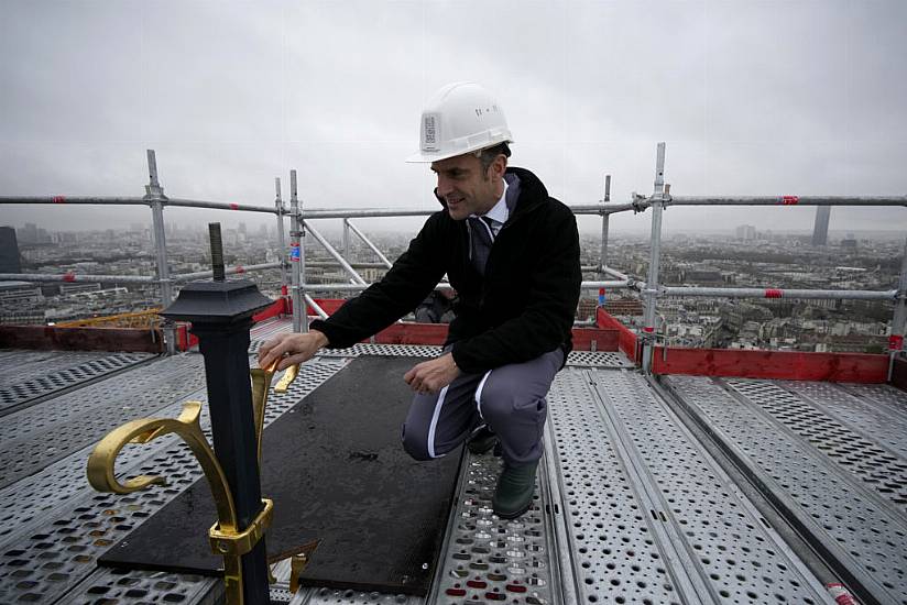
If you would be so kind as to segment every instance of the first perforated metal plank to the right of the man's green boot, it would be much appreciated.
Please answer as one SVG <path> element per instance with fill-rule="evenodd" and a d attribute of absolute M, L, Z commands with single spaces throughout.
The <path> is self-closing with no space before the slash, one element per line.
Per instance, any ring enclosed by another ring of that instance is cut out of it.
<path fill-rule="evenodd" d="M 653 539 L 587 375 L 564 370 L 548 394 L 567 543 L 581 603 L 679 604 L 677 584 Z"/>

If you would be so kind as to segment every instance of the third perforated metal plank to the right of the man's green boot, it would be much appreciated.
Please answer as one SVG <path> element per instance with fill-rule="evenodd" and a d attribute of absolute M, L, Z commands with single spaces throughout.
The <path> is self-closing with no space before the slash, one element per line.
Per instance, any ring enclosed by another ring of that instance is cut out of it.
<path fill-rule="evenodd" d="M 907 603 L 907 527 L 899 516 L 746 398 L 704 377 L 665 383 L 859 596 Z"/>

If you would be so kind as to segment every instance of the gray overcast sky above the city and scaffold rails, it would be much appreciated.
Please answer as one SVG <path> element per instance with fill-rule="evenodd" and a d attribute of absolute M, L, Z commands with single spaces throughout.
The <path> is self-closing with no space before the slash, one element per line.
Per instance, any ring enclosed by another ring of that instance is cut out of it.
<path fill-rule="evenodd" d="M 142 195 L 154 148 L 174 197 L 271 206 L 296 168 L 308 207 L 434 209 L 427 167 L 403 160 L 424 101 L 462 79 L 499 97 L 511 163 L 568 204 L 600 199 L 605 173 L 614 201 L 651 193 L 658 141 L 676 195 L 903 195 L 905 25 L 903 0 L 2 0 L 0 195 Z M 146 209 L 0 212 L 150 224 Z M 809 229 L 813 215 L 674 208 L 665 227 Z M 831 229 L 907 229 L 907 209 L 835 208 Z"/>

